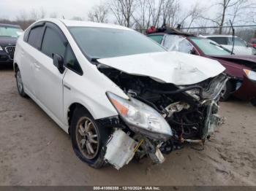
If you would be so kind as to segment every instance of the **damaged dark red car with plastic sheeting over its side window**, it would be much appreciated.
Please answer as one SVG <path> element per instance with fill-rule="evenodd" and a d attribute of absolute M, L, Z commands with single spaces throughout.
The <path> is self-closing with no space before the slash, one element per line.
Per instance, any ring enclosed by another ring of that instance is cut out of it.
<path fill-rule="evenodd" d="M 148 37 L 162 44 L 167 50 L 185 52 L 211 58 L 222 63 L 230 76 L 223 90 L 222 100 L 230 95 L 251 101 L 256 106 L 256 56 L 231 55 L 229 50 L 203 37 L 185 34 L 173 29 L 154 31 Z"/>

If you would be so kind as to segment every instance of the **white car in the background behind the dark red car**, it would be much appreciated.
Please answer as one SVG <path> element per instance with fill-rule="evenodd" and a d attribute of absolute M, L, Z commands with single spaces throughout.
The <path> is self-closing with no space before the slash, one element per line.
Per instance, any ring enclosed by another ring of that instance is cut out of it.
<path fill-rule="evenodd" d="M 222 47 L 227 48 L 227 50 L 232 51 L 233 49 L 233 39 L 234 39 L 234 49 L 233 52 L 236 55 L 255 55 L 256 50 L 250 46 L 246 41 L 239 38 L 238 36 L 232 35 L 203 35 L 207 39 L 211 39 L 218 44 L 221 44 Z"/>

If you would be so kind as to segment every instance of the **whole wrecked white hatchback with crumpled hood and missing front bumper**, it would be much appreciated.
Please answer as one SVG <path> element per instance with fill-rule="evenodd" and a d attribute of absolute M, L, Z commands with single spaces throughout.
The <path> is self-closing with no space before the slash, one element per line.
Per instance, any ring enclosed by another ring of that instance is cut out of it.
<path fill-rule="evenodd" d="M 133 157 L 164 161 L 184 142 L 203 143 L 222 124 L 227 77 L 217 61 L 167 52 L 122 26 L 39 20 L 18 39 L 18 93 L 29 95 L 91 167 Z"/>

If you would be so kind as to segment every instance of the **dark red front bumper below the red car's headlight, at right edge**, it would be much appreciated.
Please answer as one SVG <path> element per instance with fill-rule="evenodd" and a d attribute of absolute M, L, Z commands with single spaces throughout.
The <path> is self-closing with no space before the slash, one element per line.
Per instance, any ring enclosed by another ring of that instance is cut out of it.
<path fill-rule="evenodd" d="M 233 95 L 244 101 L 251 101 L 252 98 L 256 98 L 256 82 L 252 82 L 252 80 L 244 76 L 241 87 L 239 87 Z"/>

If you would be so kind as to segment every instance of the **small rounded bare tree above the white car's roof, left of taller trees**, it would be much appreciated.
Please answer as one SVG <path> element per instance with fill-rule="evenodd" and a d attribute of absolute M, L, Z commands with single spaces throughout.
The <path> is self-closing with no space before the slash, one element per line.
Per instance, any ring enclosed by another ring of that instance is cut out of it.
<path fill-rule="evenodd" d="M 97 23 L 108 23 L 108 7 L 106 4 L 94 6 L 88 14 L 90 21 Z"/>

